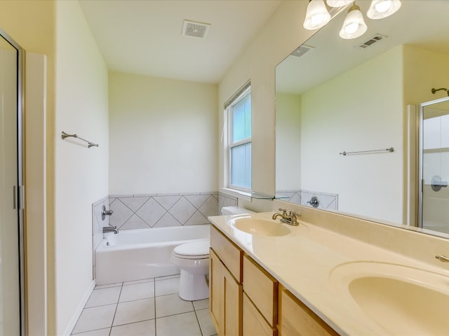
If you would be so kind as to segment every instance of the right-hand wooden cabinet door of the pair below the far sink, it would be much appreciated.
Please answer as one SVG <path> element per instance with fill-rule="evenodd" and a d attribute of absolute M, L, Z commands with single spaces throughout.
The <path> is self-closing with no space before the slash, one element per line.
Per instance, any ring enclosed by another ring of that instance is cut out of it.
<path fill-rule="evenodd" d="M 222 267 L 222 290 L 223 290 L 223 323 L 220 325 L 220 336 L 241 336 L 242 321 L 242 286 L 234 279 L 234 276 Z"/>

